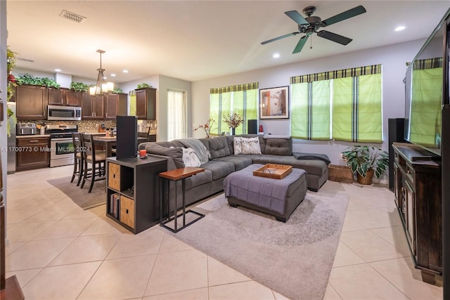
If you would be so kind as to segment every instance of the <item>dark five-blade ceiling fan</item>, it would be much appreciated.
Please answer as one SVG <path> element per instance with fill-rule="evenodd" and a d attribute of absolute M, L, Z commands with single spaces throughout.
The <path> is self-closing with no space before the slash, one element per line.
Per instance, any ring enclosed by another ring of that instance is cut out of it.
<path fill-rule="evenodd" d="M 352 41 L 352 39 L 326 30 L 321 30 L 319 32 L 317 32 L 317 30 L 319 30 L 320 27 L 327 27 L 334 23 L 347 20 L 349 18 L 353 18 L 356 15 L 361 15 L 361 13 L 366 13 L 366 8 L 364 8 L 364 6 L 361 5 L 356 6 L 354 8 L 349 9 L 348 11 L 339 13 L 338 15 L 335 15 L 326 20 L 322 20 L 319 17 L 312 16 L 314 11 L 316 11 L 316 7 L 314 6 L 308 6 L 307 8 L 304 8 L 303 13 L 304 15 L 307 15 L 307 18 L 303 18 L 298 11 L 286 11 L 285 14 L 288 15 L 289 18 L 297 22 L 298 32 L 293 32 L 282 35 L 281 37 L 269 39 L 268 41 L 263 41 L 261 44 L 262 45 L 268 44 L 271 43 L 272 41 L 278 41 L 278 39 L 284 39 L 285 37 L 290 37 L 293 35 L 304 33 L 306 35 L 300 38 L 300 41 L 298 41 L 297 46 L 295 46 L 295 49 L 293 51 L 293 53 L 298 53 L 302 51 L 302 48 L 304 44 L 307 42 L 308 37 L 315 32 L 317 33 L 318 37 L 323 37 L 324 39 L 329 39 L 330 41 L 335 41 L 336 43 L 347 45 L 349 44 L 350 41 Z"/>

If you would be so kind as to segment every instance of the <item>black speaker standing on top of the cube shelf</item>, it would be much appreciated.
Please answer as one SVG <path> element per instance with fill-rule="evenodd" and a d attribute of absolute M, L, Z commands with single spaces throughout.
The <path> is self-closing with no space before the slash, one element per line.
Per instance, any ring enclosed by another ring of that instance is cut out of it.
<path fill-rule="evenodd" d="M 117 116 L 117 159 L 136 157 L 138 152 L 138 118 Z"/>

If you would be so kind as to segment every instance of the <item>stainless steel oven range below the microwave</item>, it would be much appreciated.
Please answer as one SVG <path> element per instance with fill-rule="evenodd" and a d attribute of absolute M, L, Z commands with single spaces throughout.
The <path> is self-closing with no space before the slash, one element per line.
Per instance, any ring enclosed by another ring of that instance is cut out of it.
<path fill-rule="evenodd" d="M 77 131 L 77 125 L 47 125 L 46 133 L 50 134 L 50 167 L 74 163 L 72 132 Z"/>

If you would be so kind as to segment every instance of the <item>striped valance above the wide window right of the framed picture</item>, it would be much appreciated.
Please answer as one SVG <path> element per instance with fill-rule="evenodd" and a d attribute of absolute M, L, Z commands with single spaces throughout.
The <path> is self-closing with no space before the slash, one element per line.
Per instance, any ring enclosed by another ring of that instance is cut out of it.
<path fill-rule="evenodd" d="M 379 74 L 381 65 L 368 65 L 366 67 L 352 67 L 351 69 L 335 70 L 329 72 L 307 74 L 290 77 L 290 84 L 301 84 L 319 80 L 338 79 L 344 77 L 356 77 L 361 75 Z"/>

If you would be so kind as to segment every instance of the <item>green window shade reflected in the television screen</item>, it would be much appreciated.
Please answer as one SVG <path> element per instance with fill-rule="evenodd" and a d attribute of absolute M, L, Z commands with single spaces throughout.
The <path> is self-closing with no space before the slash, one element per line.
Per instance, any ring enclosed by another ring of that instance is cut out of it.
<path fill-rule="evenodd" d="M 435 146 L 441 136 L 442 67 L 413 71 L 410 141 Z"/>

